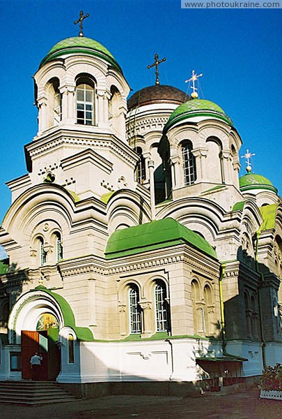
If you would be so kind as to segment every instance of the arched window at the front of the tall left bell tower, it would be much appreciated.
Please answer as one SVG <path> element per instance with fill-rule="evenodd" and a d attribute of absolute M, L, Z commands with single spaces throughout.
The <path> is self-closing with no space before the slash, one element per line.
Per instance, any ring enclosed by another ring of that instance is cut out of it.
<path fill-rule="evenodd" d="M 77 124 L 94 125 L 94 91 L 95 85 L 90 78 L 77 80 Z"/>

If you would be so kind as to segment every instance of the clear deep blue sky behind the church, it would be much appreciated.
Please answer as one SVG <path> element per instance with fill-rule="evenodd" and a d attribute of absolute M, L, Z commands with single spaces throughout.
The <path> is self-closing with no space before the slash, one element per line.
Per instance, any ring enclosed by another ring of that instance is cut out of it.
<path fill-rule="evenodd" d="M 73 22 L 89 13 L 84 35 L 111 51 L 133 91 L 154 84 L 154 54 L 161 84 L 187 91 L 191 70 L 203 73 L 201 98 L 233 119 L 253 171 L 282 193 L 282 10 L 183 10 L 180 0 L 0 0 L 1 112 L 0 219 L 10 205 L 5 182 L 26 173 L 24 145 L 37 132 L 33 80 L 40 61 Z M 245 172 L 244 159 L 242 175 Z M 0 220 L 0 222 L 1 222 Z"/>

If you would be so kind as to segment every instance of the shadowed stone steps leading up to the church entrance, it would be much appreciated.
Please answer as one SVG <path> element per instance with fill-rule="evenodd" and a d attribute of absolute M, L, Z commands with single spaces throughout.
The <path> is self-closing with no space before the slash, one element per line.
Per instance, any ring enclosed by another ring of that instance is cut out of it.
<path fill-rule="evenodd" d="M 39 406 L 76 401 L 79 399 L 51 381 L 0 381 L 0 404 Z"/>

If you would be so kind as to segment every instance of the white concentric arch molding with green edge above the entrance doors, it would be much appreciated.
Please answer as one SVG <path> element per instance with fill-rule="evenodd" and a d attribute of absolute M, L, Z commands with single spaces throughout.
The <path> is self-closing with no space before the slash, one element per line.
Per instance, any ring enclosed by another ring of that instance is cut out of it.
<path fill-rule="evenodd" d="M 68 314 L 63 313 L 58 298 L 68 308 Z M 61 295 L 52 295 L 45 287 L 38 286 L 33 291 L 25 293 L 15 303 L 8 321 L 8 339 L 10 344 L 21 343 L 22 330 L 36 330 L 38 319 L 42 314 L 52 314 L 58 321 L 60 330 L 65 322 L 75 325 L 75 316 L 66 300 Z"/>

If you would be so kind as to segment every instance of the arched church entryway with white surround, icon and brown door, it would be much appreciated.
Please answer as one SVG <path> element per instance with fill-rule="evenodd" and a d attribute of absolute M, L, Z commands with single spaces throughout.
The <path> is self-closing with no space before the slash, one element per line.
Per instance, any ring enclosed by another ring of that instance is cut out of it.
<path fill-rule="evenodd" d="M 38 286 L 22 295 L 11 311 L 9 343 L 20 346 L 22 379 L 31 378 L 30 360 L 36 352 L 43 358 L 40 380 L 55 381 L 60 372 L 58 334 L 65 325 L 60 302 L 68 304 L 61 295 Z"/>

